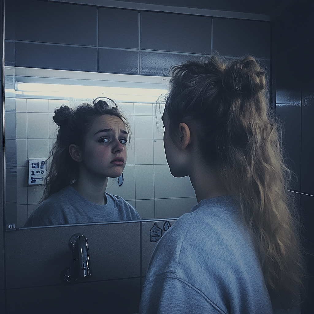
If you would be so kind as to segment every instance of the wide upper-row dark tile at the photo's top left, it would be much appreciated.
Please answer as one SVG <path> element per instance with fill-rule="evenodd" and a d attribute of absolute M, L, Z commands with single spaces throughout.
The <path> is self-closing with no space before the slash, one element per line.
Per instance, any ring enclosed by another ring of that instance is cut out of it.
<path fill-rule="evenodd" d="M 96 8 L 17 0 L 15 39 L 96 46 Z"/>

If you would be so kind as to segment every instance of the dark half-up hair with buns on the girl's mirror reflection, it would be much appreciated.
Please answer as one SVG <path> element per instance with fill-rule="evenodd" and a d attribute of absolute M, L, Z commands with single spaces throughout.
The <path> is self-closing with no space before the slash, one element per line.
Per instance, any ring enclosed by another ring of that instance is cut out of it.
<path fill-rule="evenodd" d="M 117 116 L 125 124 L 128 133 L 130 127 L 117 104 L 104 97 L 96 98 L 93 105 L 84 103 L 74 109 L 62 105 L 55 110 L 53 121 L 58 125 L 57 140 L 54 143 L 48 160 L 52 157 L 51 167 L 45 179 L 45 191 L 42 200 L 62 188 L 74 183 L 79 175 L 78 162 L 69 153 L 69 146 L 84 145 L 84 136 L 88 133 L 95 118 L 102 115 Z"/>

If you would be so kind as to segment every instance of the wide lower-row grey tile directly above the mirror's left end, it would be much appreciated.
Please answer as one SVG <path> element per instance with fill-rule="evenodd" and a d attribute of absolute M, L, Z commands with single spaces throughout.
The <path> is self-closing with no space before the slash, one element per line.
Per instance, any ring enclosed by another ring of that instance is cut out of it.
<path fill-rule="evenodd" d="M 96 71 L 97 49 L 17 42 L 15 66 L 74 71 Z"/>

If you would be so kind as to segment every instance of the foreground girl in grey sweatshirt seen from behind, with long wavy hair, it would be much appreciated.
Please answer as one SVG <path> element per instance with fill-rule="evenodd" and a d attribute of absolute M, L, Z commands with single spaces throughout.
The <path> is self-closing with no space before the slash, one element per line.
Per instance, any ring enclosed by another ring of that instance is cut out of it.
<path fill-rule="evenodd" d="M 198 205 L 160 239 L 139 313 L 300 313 L 306 275 L 289 170 L 252 57 L 171 69 L 162 120 L 171 174 Z"/>

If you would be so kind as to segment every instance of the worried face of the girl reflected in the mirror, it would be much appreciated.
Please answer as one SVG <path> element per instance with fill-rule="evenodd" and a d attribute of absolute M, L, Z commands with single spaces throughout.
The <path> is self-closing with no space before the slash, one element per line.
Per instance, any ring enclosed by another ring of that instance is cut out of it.
<path fill-rule="evenodd" d="M 127 131 L 117 116 L 97 117 L 85 136 L 82 163 L 96 176 L 121 176 L 127 161 Z"/>

